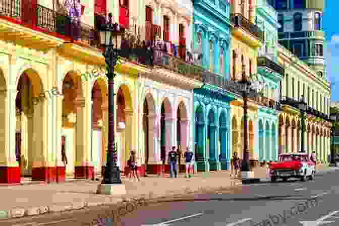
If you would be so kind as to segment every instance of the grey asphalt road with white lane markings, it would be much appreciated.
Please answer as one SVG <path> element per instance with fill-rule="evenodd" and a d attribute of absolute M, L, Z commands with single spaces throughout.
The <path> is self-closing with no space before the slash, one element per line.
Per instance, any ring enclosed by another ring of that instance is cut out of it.
<path fill-rule="evenodd" d="M 152 204 L 140 207 L 124 216 L 120 226 L 316 226 L 322 224 L 337 226 L 339 225 L 338 173 L 339 171 L 335 171 L 316 175 L 314 181 L 290 180 L 287 183 L 279 181 L 273 184 L 266 182 L 243 185 L 242 189 L 228 193 L 197 194 L 186 200 Z M 89 226 L 93 225 L 89 224 L 93 217 L 110 208 L 110 206 L 95 206 L 63 213 L 0 220 L 0 225 Z M 300 223 L 300 221 L 310 222 Z"/>

